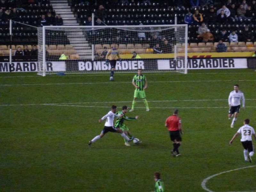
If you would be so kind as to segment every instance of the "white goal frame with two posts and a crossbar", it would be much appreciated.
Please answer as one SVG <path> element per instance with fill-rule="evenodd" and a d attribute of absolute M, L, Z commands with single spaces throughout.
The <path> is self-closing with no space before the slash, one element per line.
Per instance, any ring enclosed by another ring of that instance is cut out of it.
<path fill-rule="evenodd" d="M 184 74 L 188 73 L 188 25 L 187 24 L 179 24 L 179 25 L 107 25 L 107 26 L 43 26 L 43 73 L 38 75 L 46 76 L 46 44 L 45 44 L 45 30 L 51 29 L 51 28 L 150 28 L 150 27 L 173 27 L 175 28 L 175 31 L 177 27 L 185 27 L 185 58 L 184 58 Z M 92 46 L 93 48 L 94 46 Z M 176 45 L 174 46 L 174 55 L 175 55 L 175 62 L 176 62 L 176 54 L 177 54 L 177 48 Z M 92 60 L 94 60 L 94 50 L 92 51 Z M 42 72 L 42 71 L 41 71 Z M 161 72 L 161 71 L 159 71 Z M 97 72 L 95 72 L 97 73 Z"/>

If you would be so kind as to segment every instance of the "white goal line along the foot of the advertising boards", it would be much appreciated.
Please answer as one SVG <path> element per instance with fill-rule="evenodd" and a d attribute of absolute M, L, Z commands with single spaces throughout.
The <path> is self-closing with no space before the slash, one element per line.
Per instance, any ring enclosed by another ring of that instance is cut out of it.
<path fill-rule="evenodd" d="M 134 74 L 135 72 L 131 72 L 131 74 Z M 149 72 L 150 73 L 150 72 Z M 169 75 L 168 72 L 164 73 L 164 74 L 159 74 L 159 73 L 154 73 L 154 74 L 149 74 L 147 73 L 147 75 Z M 115 73 L 115 76 L 130 76 L 131 74 L 122 74 L 122 73 Z M 186 75 L 204 75 L 204 74 L 218 74 L 218 75 L 221 75 L 221 74 L 256 74 L 255 72 L 242 72 L 242 73 L 188 73 Z M 172 73 L 172 75 L 183 75 L 181 73 Z M 54 77 L 59 77 L 58 75 L 51 75 L 51 76 L 54 76 Z M 109 74 L 102 74 L 102 75 L 98 75 L 98 74 L 93 74 L 93 73 L 86 73 L 86 74 L 83 74 L 83 75 L 71 75 L 71 74 L 65 74 L 65 76 L 109 76 Z M 0 76 L 0 78 L 20 78 L 20 77 L 42 77 L 42 76 L 39 76 L 39 75 L 36 75 L 36 76 Z"/>

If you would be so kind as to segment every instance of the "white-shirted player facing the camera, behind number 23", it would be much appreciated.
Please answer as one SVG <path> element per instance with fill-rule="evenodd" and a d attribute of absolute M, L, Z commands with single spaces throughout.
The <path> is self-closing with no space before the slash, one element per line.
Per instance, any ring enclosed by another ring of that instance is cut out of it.
<path fill-rule="evenodd" d="M 244 93 L 239 91 L 239 85 L 234 85 L 234 91 L 231 91 L 228 97 L 228 105 L 229 105 L 229 111 L 228 111 L 228 119 L 231 119 L 231 117 L 234 114 L 234 118 L 232 120 L 232 123 L 230 125 L 231 128 L 234 127 L 234 123 L 236 121 L 236 118 L 239 113 L 240 109 L 240 100 L 242 100 L 243 108 L 244 108 Z"/>

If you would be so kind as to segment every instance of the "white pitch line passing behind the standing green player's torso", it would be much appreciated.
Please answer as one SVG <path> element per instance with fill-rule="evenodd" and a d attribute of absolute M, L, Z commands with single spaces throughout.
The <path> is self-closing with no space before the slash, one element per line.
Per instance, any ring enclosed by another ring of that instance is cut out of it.
<path fill-rule="evenodd" d="M 185 83 L 185 82 L 227 82 L 227 81 L 256 81 L 256 80 L 203 80 L 203 81 L 148 81 L 148 83 Z M 131 82 L 91 82 L 91 83 L 46 83 L 46 84 L 0 84 L 0 86 L 27 86 L 27 85 L 74 85 L 74 84 L 131 84 Z"/>

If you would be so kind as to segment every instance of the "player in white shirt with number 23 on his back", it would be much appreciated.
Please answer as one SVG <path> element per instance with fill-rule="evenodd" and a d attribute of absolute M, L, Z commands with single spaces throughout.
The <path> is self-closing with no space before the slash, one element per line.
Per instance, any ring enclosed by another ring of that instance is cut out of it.
<path fill-rule="evenodd" d="M 253 127 L 249 125 L 250 120 L 245 119 L 244 120 L 244 126 L 240 127 L 236 134 L 233 136 L 231 141 L 229 142 L 229 145 L 232 144 L 233 140 L 236 139 L 236 136 L 238 133 L 241 134 L 241 143 L 244 147 L 244 161 L 250 161 L 252 163 L 252 156 L 254 154 L 253 146 L 252 146 L 252 135 L 254 136 L 254 139 L 256 140 L 255 131 Z M 249 152 L 249 155 L 248 155 Z"/>

